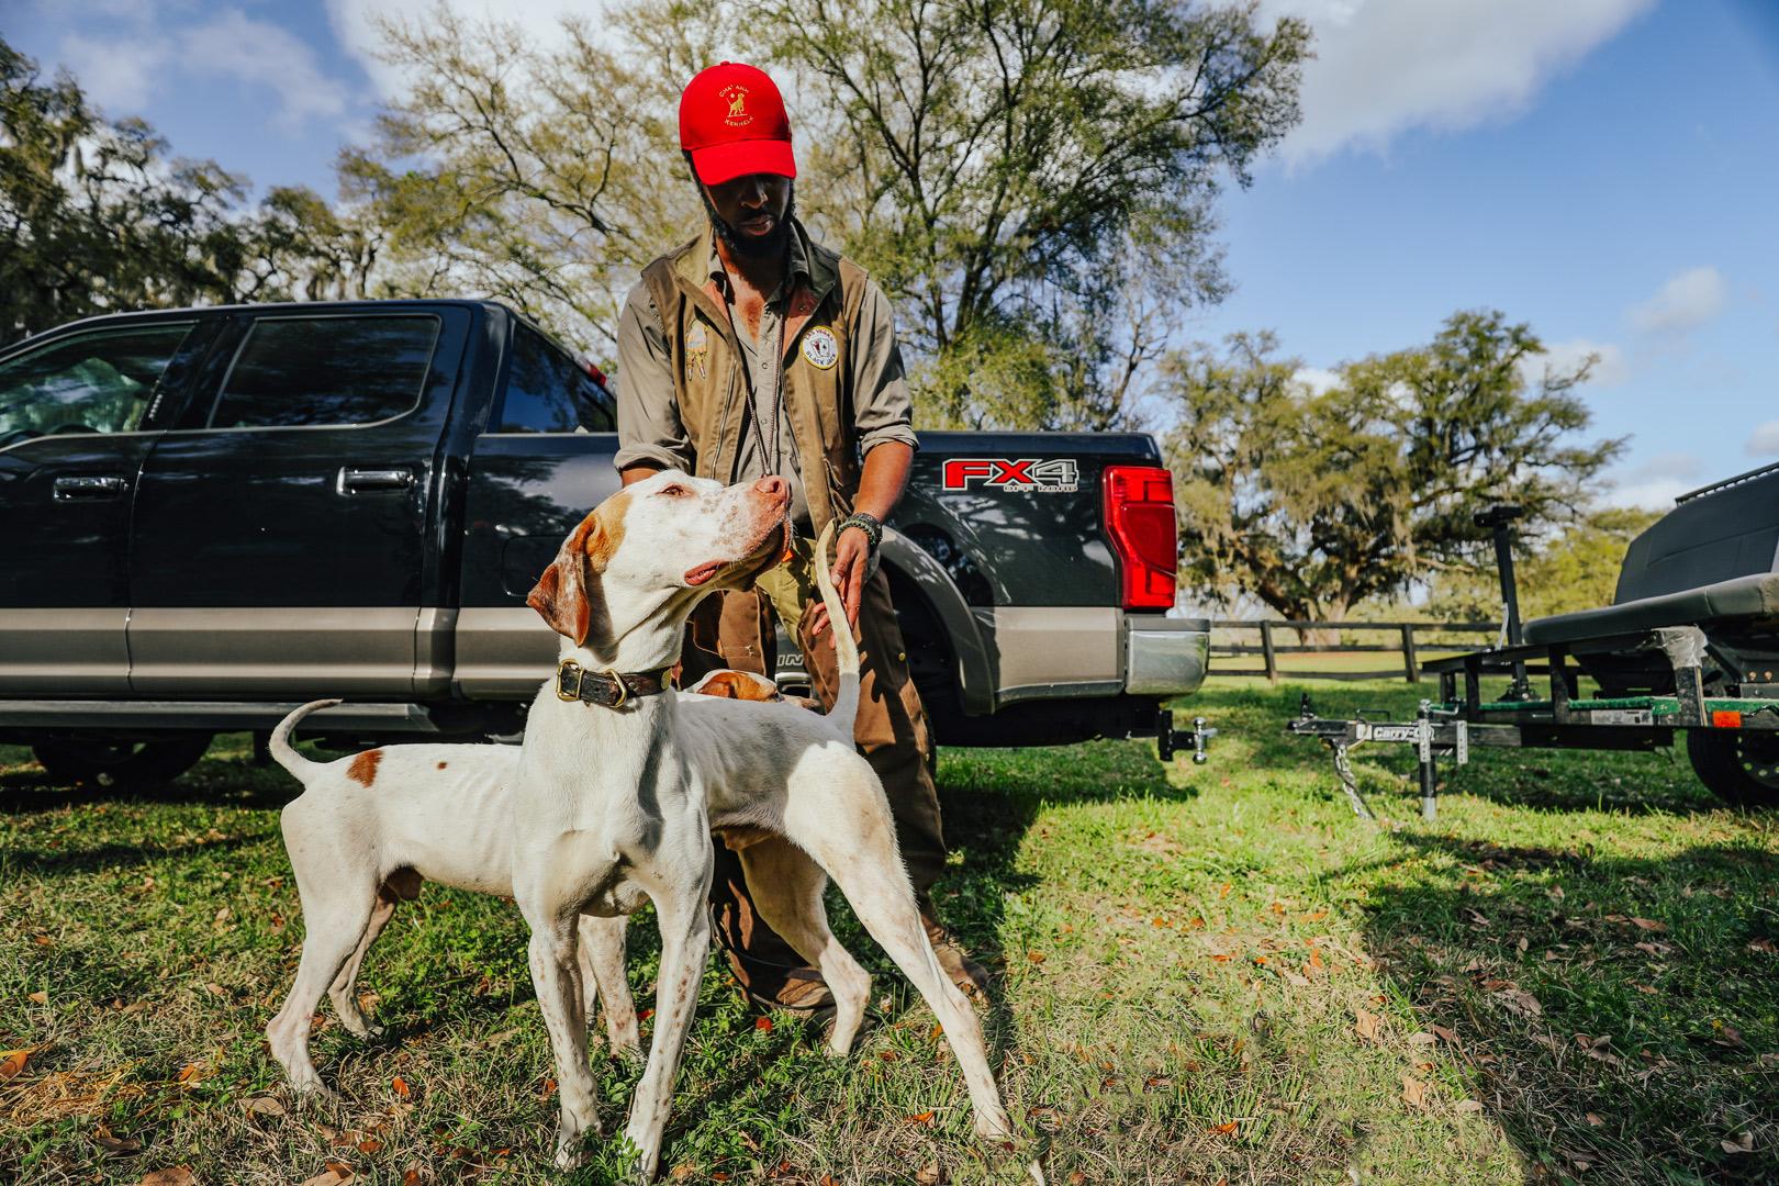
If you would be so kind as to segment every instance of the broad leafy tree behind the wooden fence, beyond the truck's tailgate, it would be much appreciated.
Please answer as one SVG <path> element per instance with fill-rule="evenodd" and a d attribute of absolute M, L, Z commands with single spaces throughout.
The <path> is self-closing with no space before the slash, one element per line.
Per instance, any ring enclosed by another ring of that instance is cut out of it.
<path fill-rule="evenodd" d="M 1574 443 L 1592 361 L 1542 366 L 1501 313 L 1446 318 L 1427 347 L 1348 363 L 1324 393 L 1270 334 L 1174 354 L 1167 437 L 1181 505 L 1181 576 L 1284 617 L 1340 621 L 1357 603 L 1487 555 L 1471 516 L 1525 507 L 1539 535 L 1585 507 L 1622 441 Z"/>

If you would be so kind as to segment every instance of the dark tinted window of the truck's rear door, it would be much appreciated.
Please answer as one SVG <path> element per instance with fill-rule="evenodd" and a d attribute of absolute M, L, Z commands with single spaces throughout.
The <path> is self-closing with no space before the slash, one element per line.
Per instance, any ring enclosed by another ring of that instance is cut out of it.
<path fill-rule="evenodd" d="M 363 425 L 420 402 L 436 317 L 260 318 L 222 381 L 212 429 Z"/>

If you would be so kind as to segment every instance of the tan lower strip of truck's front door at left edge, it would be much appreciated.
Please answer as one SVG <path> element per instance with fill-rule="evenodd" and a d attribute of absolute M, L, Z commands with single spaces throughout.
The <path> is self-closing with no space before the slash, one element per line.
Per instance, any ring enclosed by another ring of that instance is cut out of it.
<path fill-rule="evenodd" d="M 130 690 L 130 610 L 0 610 L 0 693 Z"/>

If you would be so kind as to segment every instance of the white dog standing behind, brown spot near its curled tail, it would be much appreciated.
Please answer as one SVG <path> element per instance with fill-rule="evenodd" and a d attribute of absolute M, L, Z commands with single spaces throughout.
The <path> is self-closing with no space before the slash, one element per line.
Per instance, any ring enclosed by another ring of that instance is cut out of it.
<path fill-rule="evenodd" d="M 390 745 L 331 763 L 294 750 L 297 722 L 338 702 L 295 709 L 272 731 L 270 745 L 278 765 L 302 784 L 281 818 L 302 900 L 302 962 L 285 1006 L 265 1028 L 272 1056 L 297 1092 L 326 1092 L 310 1062 L 310 1017 L 322 992 L 350 1033 L 381 1033 L 359 1012 L 354 982 L 398 900 L 418 896 L 422 880 L 512 896 L 519 747 Z M 637 1008 L 624 982 L 624 919 L 582 918 L 578 958 L 584 1015 L 592 1017 L 603 992 L 612 1051 L 640 1054 Z"/>

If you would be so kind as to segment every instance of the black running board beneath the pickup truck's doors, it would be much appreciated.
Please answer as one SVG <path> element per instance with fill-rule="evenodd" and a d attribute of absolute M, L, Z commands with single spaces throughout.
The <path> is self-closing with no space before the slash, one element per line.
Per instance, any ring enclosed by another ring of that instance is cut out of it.
<path fill-rule="evenodd" d="M 9 729 L 68 729 L 103 724 L 137 729 L 260 729 L 288 717 L 301 701 L 0 701 L 0 725 Z M 313 722 L 313 724 L 311 724 Z M 310 715 L 304 729 L 374 729 L 438 733 L 422 704 L 338 704 Z"/>

